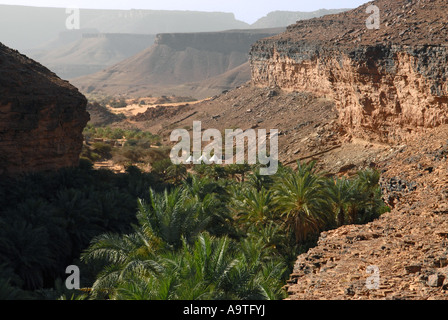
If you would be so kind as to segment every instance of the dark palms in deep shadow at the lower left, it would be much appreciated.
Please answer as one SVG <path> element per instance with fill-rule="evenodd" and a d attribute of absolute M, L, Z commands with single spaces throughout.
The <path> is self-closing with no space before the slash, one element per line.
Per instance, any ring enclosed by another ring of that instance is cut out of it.
<path fill-rule="evenodd" d="M 105 232 L 128 233 L 137 198 L 166 186 L 152 174 L 90 165 L 0 179 L 0 299 L 57 297 L 55 282 Z"/>

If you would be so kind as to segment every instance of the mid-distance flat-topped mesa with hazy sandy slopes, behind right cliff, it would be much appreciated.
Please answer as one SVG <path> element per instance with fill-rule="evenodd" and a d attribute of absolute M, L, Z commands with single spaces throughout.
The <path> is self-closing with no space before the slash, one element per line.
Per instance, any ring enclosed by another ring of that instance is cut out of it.
<path fill-rule="evenodd" d="M 206 98 L 250 80 L 250 46 L 283 30 L 159 34 L 147 50 L 72 82 L 86 94 Z"/>

